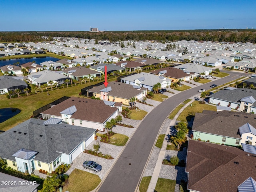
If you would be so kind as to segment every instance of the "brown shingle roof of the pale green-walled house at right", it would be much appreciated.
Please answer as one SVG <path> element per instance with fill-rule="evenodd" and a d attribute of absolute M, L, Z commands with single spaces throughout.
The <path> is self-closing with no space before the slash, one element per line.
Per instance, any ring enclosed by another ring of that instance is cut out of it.
<path fill-rule="evenodd" d="M 196 113 L 192 130 L 232 138 L 241 138 L 238 129 L 250 123 L 256 124 L 256 115 L 231 111 L 208 111 Z"/>

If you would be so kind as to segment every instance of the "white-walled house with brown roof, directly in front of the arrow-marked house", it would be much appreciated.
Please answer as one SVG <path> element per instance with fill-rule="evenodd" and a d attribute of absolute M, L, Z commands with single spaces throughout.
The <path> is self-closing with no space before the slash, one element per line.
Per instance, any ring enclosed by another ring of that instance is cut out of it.
<path fill-rule="evenodd" d="M 44 119 L 58 118 L 68 124 L 103 131 L 106 122 L 118 116 L 119 106 L 111 107 L 100 100 L 72 97 L 41 114 Z"/>

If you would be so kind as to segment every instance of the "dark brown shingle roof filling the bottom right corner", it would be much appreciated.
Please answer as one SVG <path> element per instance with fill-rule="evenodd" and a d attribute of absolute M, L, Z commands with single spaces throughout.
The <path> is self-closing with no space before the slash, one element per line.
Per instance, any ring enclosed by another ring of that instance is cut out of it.
<path fill-rule="evenodd" d="M 256 157 L 247 154 L 235 147 L 189 140 L 186 162 L 188 189 L 237 192 L 237 187 L 248 177 L 256 179 Z"/>

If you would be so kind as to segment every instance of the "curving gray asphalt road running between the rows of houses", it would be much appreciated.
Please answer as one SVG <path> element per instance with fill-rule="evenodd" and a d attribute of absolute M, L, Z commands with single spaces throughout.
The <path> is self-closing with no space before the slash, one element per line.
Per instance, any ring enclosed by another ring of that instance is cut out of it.
<path fill-rule="evenodd" d="M 225 71 L 226 72 L 226 71 Z M 228 72 L 230 76 L 214 81 L 222 85 L 239 78 L 241 73 Z M 242 74 L 244 75 L 244 74 Z M 136 132 L 124 148 L 112 170 L 96 190 L 98 192 L 134 192 L 146 166 L 158 132 L 170 112 L 187 98 L 198 93 L 199 89 L 210 88 L 212 82 L 176 94 L 156 106 L 140 123 Z"/>

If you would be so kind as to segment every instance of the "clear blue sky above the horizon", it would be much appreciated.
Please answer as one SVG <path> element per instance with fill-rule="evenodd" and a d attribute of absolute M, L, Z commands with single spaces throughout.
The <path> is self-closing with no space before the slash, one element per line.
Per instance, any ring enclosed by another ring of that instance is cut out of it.
<path fill-rule="evenodd" d="M 0 0 L 0 31 L 256 28 L 256 0 Z"/>

